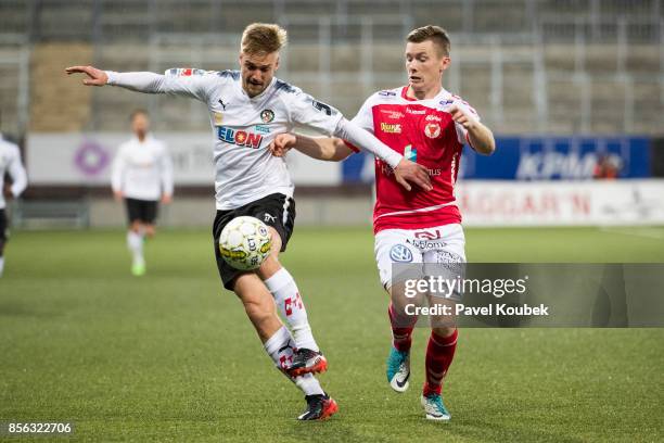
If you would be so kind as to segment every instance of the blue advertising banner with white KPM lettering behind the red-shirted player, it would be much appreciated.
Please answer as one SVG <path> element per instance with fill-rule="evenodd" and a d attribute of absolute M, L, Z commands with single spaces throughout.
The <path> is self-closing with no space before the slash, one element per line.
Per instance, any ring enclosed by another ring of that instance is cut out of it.
<path fill-rule="evenodd" d="M 460 178 L 487 180 L 585 180 L 651 176 L 646 137 L 498 137 L 491 156 L 465 147 Z M 346 182 L 373 180 L 372 159 L 344 162 Z"/>

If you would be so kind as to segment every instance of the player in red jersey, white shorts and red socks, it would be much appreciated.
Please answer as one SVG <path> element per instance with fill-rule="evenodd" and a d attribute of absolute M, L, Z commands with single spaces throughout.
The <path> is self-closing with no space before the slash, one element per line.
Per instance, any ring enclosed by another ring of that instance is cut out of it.
<path fill-rule="evenodd" d="M 412 30 L 406 43 L 408 85 L 371 96 L 354 122 L 406 159 L 429 169 L 433 189 L 403 189 L 392 168 L 375 160 L 376 203 L 373 213 L 375 258 L 381 282 L 391 294 L 388 308 L 393 344 L 387 358 L 387 381 L 397 392 L 408 389 L 411 334 L 417 317 L 404 315 L 404 287 L 393 279 L 393 264 L 464 263 L 461 214 L 455 182 L 463 144 L 491 154 L 491 131 L 460 97 L 442 87 L 449 67 L 450 42 L 438 26 Z M 274 155 L 290 148 L 327 161 L 342 161 L 357 149 L 337 138 L 278 136 Z M 449 420 L 440 395 L 443 379 L 455 355 L 457 328 L 452 322 L 432 324 L 426 347 L 426 381 L 422 406 L 432 420 Z"/>

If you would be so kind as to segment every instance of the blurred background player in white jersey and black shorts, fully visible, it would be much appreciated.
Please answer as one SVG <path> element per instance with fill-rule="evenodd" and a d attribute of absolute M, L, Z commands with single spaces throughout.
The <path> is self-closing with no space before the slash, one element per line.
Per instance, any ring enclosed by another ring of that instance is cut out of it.
<path fill-rule="evenodd" d="M 133 137 L 117 150 L 111 186 L 115 200 L 124 200 L 127 207 L 131 274 L 142 276 L 144 239 L 154 237 L 159 200 L 168 204 L 173 198 L 173 162 L 166 145 L 150 134 L 145 111 L 135 111 L 130 121 Z"/>

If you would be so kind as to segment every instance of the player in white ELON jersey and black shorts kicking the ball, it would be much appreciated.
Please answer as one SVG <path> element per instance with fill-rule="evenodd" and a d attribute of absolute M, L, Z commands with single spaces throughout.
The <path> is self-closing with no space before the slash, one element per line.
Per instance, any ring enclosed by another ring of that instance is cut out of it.
<path fill-rule="evenodd" d="M 425 168 L 404 159 L 334 107 L 276 78 L 285 40 L 285 30 L 278 25 L 247 26 L 241 40 L 240 71 L 173 68 L 158 75 L 74 66 L 66 72 L 87 74 L 86 85 L 186 96 L 207 105 L 215 139 L 217 215 L 213 239 L 219 275 L 224 286 L 242 301 L 267 354 L 305 393 L 307 409 L 298 419 L 317 420 L 333 415 L 337 405 L 314 376 L 325 370 L 327 360 L 311 333 L 295 280 L 278 260 L 293 231 L 295 202 L 285 162 L 267 147 L 277 134 L 301 124 L 380 156 L 395 168 L 396 179 L 405 187 L 410 187 L 408 181 L 426 189 L 431 185 Z M 234 269 L 219 253 L 224 226 L 243 215 L 265 221 L 272 236 L 272 254 L 256 271 Z M 274 304 L 291 330 L 280 321 Z"/>

